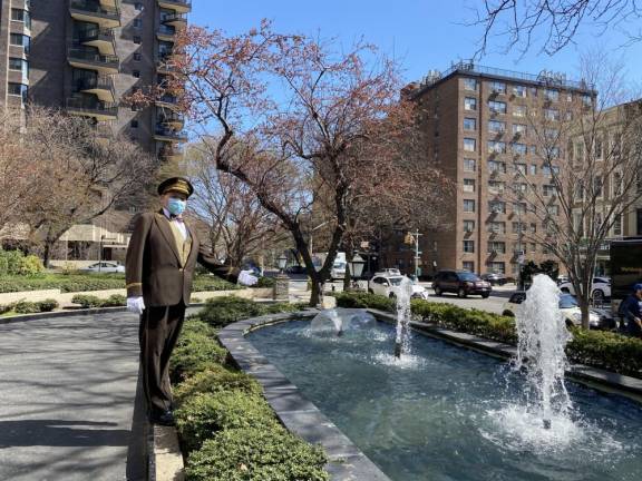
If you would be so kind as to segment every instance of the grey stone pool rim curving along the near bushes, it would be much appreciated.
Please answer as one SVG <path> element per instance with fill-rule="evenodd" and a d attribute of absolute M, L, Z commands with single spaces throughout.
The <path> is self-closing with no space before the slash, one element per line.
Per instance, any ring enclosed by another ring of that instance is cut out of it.
<path fill-rule="evenodd" d="M 283 425 L 292 433 L 313 444 L 321 444 L 330 462 L 325 469 L 335 481 L 390 481 L 383 472 L 343 434 L 332 421 L 307 400 L 245 334 L 257 328 L 295 318 L 311 317 L 319 311 L 309 310 L 289 314 L 271 314 L 230 324 L 218 333 L 221 344 L 232 361 L 256 379 L 265 399 Z"/>

